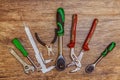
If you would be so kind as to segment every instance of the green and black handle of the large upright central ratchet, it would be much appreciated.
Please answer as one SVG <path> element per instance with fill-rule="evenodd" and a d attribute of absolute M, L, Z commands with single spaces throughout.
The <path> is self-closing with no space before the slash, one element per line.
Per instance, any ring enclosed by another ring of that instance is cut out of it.
<path fill-rule="evenodd" d="M 57 26 L 58 26 L 57 35 L 58 36 L 63 36 L 64 35 L 64 22 L 65 22 L 64 9 L 63 8 L 58 8 L 57 9 Z"/>

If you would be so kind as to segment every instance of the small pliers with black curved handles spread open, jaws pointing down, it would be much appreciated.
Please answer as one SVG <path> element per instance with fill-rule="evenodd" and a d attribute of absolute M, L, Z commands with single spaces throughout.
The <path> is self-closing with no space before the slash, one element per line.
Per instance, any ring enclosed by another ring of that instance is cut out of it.
<path fill-rule="evenodd" d="M 37 33 L 35 33 L 35 37 L 36 37 L 37 41 L 38 41 L 41 45 L 43 45 L 43 46 L 45 46 L 45 47 L 47 48 L 47 52 L 48 52 L 48 55 L 49 55 L 49 56 L 50 56 L 50 53 L 54 55 L 52 46 L 53 46 L 53 44 L 54 44 L 54 43 L 56 42 L 56 40 L 57 40 L 56 29 L 55 29 L 54 39 L 52 40 L 52 42 L 51 42 L 49 45 L 46 44 L 45 42 L 43 42 L 43 41 L 40 39 L 40 37 L 38 36 Z"/>

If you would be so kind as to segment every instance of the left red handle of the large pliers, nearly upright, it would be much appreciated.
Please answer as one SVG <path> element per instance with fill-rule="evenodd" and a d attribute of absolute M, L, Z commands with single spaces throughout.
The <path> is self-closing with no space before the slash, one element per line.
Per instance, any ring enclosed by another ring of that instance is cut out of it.
<path fill-rule="evenodd" d="M 70 40 L 70 43 L 68 44 L 69 48 L 73 48 L 75 46 L 76 25 L 77 25 L 77 14 L 73 14 L 72 29 L 71 29 L 71 40 Z"/>

